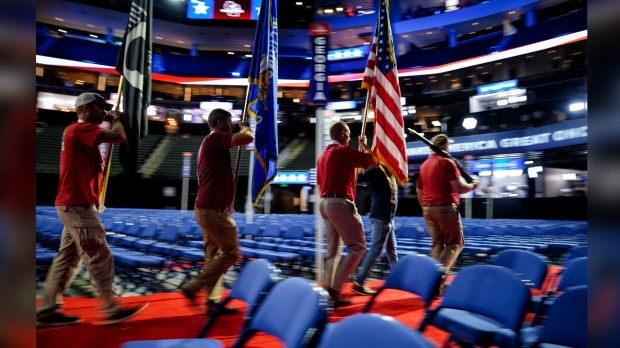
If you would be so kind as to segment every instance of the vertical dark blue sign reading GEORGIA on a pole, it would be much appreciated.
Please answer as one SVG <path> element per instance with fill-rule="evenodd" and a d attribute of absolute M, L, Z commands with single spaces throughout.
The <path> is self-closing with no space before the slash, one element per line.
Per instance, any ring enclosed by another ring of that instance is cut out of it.
<path fill-rule="evenodd" d="M 329 24 L 311 23 L 310 38 L 312 47 L 312 76 L 308 101 L 314 105 L 328 103 L 329 86 L 327 84 L 327 48 L 329 47 Z"/>

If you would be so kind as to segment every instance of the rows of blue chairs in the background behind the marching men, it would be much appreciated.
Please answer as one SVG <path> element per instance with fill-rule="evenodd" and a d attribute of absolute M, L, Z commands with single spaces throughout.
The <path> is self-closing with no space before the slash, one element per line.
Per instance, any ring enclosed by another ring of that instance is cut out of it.
<path fill-rule="evenodd" d="M 115 263 L 129 272 L 172 267 L 178 260 L 198 267 L 204 260 L 202 233 L 191 211 L 107 209 L 101 218 L 110 232 L 107 238 Z M 313 272 L 317 254 L 314 216 L 261 214 L 254 216 L 253 223 L 247 223 L 243 214 L 235 213 L 233 218 L 239 226 L 244 259 L 268 259 L 291 275 L 302 269 Z M 469 233 L 459 258 L 464 265 L 487 262 L 489 256 L 513 249 L 557 257 L 587 243 L 585 225 L 576 221 L 463 220 L 465 233 Z M 423 218 L 397 217 L 396 225 L 399 256 L 430 253 L 431 239 Z M 62 228 L 54 207 L 37 207 L 37 241 L 41 247 L 57 249 Z M 365 228 L 370 240 L 370 223 L 365 223 Z M 504 232 L 499 230 L 513 232 L 501 234 Z M 37 252 L 37 262 L 49 262 L 49 250 Z M 325 255 L 324 242 L 320 250 Z M 384 258 L 378 269 L 387 270 L 387 265 Z"/>

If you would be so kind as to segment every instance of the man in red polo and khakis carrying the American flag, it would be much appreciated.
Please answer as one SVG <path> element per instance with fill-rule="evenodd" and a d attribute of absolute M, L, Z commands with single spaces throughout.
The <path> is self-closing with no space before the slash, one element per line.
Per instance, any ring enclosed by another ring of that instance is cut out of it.
<path fill-rule="evenodd" d="M 317 163 L 317 184 L 321 195 L 319 211 L 325 221 L 327 240 L 323 286 L 334 301 L 334 307 L 338 308 L 351 304 L 351 301 L 340 296 L 340 292 L 366 252 L 364 226 L 355 206 L 356 168 L 372 167 L 377 161 L 366 145 L 364 135 L 360 136 L 361 151 L 349 147 L 351 131 L 346 123 L 334 122 L 329 135 L 332 141 Z M 344 261 L 339 263 L 341 240 L 349 251 Z"/>

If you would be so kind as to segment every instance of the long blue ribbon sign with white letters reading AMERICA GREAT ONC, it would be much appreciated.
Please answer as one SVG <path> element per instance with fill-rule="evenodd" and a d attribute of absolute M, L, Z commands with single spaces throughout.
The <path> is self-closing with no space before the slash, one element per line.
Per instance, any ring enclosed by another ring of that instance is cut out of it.
<path fill-rule="evenodd" d="M 454 137 L 450 153 L 463 155 L 495 155 L 515 152 L 540 151 L 588 142 L 587 119 L 565 121 L 548 126 L 518 131 Z M 407 158 L 424 159 L 431 150 L 422 142 L 407 143 Z"/>

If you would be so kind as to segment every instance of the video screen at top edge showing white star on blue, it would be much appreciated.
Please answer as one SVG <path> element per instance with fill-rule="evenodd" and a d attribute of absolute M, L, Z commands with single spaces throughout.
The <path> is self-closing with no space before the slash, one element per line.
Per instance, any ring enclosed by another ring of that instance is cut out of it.
<path fill-rule="evenodd" d="M 190 0 L 187 18 L 257 20 L 260 0 Z"/>

